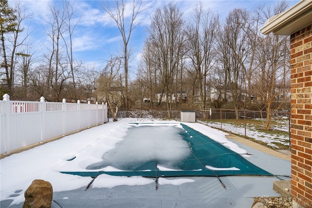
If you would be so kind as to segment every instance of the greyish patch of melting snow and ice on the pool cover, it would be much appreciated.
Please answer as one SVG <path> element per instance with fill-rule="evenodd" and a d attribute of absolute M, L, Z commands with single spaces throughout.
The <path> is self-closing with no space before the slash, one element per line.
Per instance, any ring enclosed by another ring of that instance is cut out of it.
<path fill-rule="evenodd" d="M 120 170 L 136 170 L 142 163 L 157 161 L 157 165 L 175 168 L 175 164 L 188 157 L 191 149 L 183 140 L 181 125 L 138 125 L 128 129 L 124 140 L 106 152 L 102 161 L 86 169 L 113 166 Z"/>

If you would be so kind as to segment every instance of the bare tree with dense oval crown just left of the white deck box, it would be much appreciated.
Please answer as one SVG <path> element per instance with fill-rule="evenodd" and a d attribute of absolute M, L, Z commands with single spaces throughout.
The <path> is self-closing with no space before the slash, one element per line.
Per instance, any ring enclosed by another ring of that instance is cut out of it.
<path fill-rule="evenodd" d="M 171 118 L 172 96 L 174 79 L 178 65 L 185 50 L 185 25 L 183 13 L 169 3 L 162 9 L 156 9 L 152 22 L 148 28 L 149 42 L 152 43 L 156 53 L 156 61 L 159 62 L 159 75 L 162 87 L 166 95 L 168 117 Z M 169 98 L 170 97 L 170 98 Z"/>

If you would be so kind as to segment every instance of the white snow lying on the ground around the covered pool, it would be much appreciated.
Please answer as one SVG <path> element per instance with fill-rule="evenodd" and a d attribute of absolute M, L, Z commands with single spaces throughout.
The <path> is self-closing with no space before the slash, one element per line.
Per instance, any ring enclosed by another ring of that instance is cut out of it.
<path fill-rule="evenodd" d="M 127 134 L 128 128 L 133 126 L 130 123 L 135 122 L 179 124 L 176 121 L 121 119 L 118 122 L 109 122 L 89 128 L 42 146 L 10 155 L 0 160 L 0 200 L 11 199 L 13 200 L 12 204 L 22 203 L 24 201 L 24 191 L 35 179 L 49 181 L 54 192 L 86 187 L 91 181 L 90 177 L 62 174 L 59 171 L 85 171 L 87 166 L 101 162 L 103 154 L 114 149 L 118 142 L 124 140 L 123 137 Z M 198 123 L 187 123 L 187 125 L 222 143 L 224 146 L 228 146 L 237 153 L 247 153 L 245 149 L 228 141 L 225 137 L 226 133 L 222 131 Z M 146 148 L 145 150 L 148 152 L 155 147 Z M 76 158 L 71 160 L 74 157 Z M 116 168 L 104 167 L 101 170 L 116 171 Z M 120 177 L 102 174 L 98 176 L 91 187 L 139 186 L 154 182 L 152 179 L 143 177 Z M 183 178 L 176 180 L 159 178 L 158 180 L 160 185 L 180 185 L 191 182 L 193 180 Z"/>

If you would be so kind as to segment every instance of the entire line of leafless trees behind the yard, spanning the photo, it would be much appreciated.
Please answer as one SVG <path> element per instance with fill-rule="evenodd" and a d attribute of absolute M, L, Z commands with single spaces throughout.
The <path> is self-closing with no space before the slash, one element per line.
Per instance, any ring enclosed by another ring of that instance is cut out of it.
<path fill-rule="evenodd" d="M 1 97 L 8 93 L 16 100 L 89 99 L 107 102 L 117 114 L 118 108 L 129 109 L 143 98 L 157 107 L 161 101 L 156 94 L 161 93 L 169 118 L 181 102 L 182 91 L 187 103 L 197 108 L 232 108 L 237 118 L 241 108 L 271 112 L 289 103 L 289 37 L 260 32 L 269 18 L 288 9 L 287 1 L 250 10 L 234 8 L 224 20 L 205 9 L 204 2 L 187 16 L 170 2 L 151 14 L 137 63 L 132 61 L 132 32 L 139 24 L 137 16 L 149 9 L 144 7 L 146 2 L 103 1 L 102 11 L 116 23 L 122 41 L 118 54 L 103 57 L 107 60 L 101 68 L 77 61 L 73 55 L 72 40 L 79 24 L 79 18 L 73 18 L 77 15 L 74 3 L 50 5 L 45 28 L 48 52 L 35 57 L 35 49 L 27 43 L 27 28 L 21 27 L 30 17 L 20 3 L 12 8 L 1 0 Z M 126 11 L 131 15 L 126 16 Z M 137 73 L 129 80 L 130 66 Z"/>

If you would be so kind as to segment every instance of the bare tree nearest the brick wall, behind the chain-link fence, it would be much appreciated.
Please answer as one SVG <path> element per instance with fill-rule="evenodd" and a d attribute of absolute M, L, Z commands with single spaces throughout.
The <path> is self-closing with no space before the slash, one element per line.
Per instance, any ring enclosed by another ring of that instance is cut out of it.
<path fill-rule="evenodd" d="M 264 19 L 286 11 L 289 4 L 286 1 L 277 3 L 263 13 Z M 260 97 L 267 111 L 266 130 L 271 128 L 273 114 L 288 101 L 290 86 L 289 37 L 280 35 L 265 35 L 261 38 L 256 58 L 259 70 L 254 73 L 254 91 Z"/>

